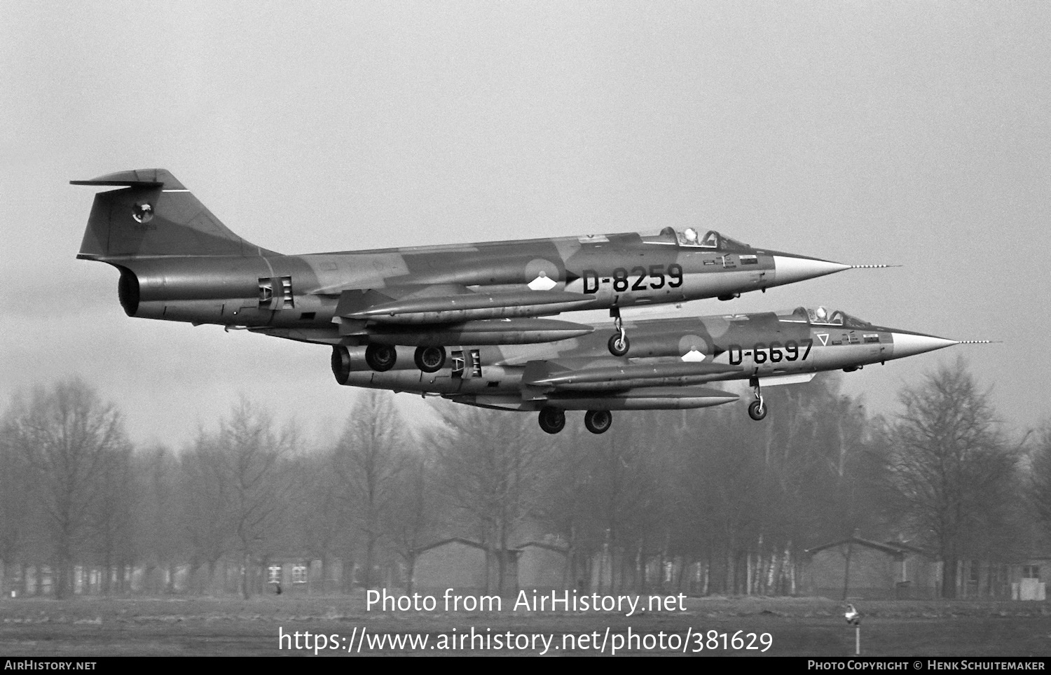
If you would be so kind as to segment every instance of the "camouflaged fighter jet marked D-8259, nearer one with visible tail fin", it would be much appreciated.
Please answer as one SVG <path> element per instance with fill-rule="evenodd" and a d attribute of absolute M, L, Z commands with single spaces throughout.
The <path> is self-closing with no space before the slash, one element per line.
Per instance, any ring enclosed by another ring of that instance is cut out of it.
<path fill-rule="evenodd" d="M 362 346 L 375 372 L 446 367 L 447 346 L 581 337 L 589 324 L 535 317 L 610 309 L 605 347 L 627 354 L 620 308 L 763 290 L 850 267 L 755 249 L 716 231 L 282 255 L 226 228 L 164 169 L 74 185 L 100 192 L 79 258 L 120 270 L 128 316 L 217 323 L 322 344 Z M 883 266 L 875 266 L 883 267 Z"/>

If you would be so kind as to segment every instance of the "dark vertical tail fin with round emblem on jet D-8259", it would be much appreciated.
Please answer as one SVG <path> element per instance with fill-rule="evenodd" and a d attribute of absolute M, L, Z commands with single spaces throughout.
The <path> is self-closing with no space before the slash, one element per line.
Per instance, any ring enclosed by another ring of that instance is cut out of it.
<path fill-rule="evenodd" d="M 79 258 L 274 255 L 231 232 L 165 169 L 121 171 L 70 183 L 125 186 L 95 195 Z"/>

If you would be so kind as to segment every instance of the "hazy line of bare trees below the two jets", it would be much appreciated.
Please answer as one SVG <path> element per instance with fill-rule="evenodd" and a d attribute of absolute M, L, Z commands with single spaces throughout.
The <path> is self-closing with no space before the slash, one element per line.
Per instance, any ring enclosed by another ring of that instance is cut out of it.
<path fill-rule="evenodd" d="M 363 391 L 320 442 L 242 399 L 168 447 L 136 446 L 97 388 L 60 381 L 0 419 L 0 573 L 24 592 L 46 565 L 63 596 L 76 566 L 105 570 L 104 593 L 129 591 L 120 570 L 139 567 L 166 579 L 148 589 L 161 593 L 177 567 L 208 579 L 232 563 L 248 597 L 248 570 L 298 555 L 323 575 L 356 567 L 367 588 L 396 568 L 411 592 L 419 549 L 462 536 L 485 546 L 497 590 L 512 549 L 544 541 L 564 552 L 569 586 L 682 589 L 696 573 L 695 591 L 790 594 L 806 549 L 862 532 L 930 551 L 952 596 L 959 561 L 1015 562 L 1051 534 L 1051 425 L 1006 433 L 963 361 L 904 388 L 885 417 L 836 376 L 765 396 L 762 423 L 728 405 L 549 436 L 534 415 L 445 401 L 412 426 L 391 394 Z"/>

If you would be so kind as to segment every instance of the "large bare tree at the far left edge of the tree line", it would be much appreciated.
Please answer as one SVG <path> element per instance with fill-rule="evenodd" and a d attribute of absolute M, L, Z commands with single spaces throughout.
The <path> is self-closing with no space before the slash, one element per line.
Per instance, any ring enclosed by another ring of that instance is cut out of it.
<path fill-rule="evenodd" d="M 75 557 L 91 533 L 110 460 L 127 452 L 120 413 L 82 380 L 66 380 L 16 405 L 5 436 L 37 488 L 57 562 L 55 594 L 62 597 L 70 591 Z"/>

